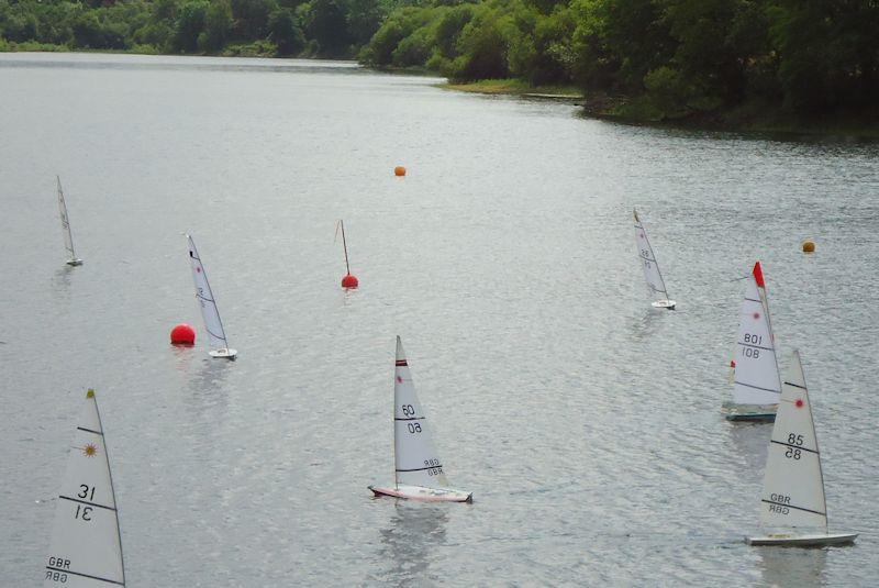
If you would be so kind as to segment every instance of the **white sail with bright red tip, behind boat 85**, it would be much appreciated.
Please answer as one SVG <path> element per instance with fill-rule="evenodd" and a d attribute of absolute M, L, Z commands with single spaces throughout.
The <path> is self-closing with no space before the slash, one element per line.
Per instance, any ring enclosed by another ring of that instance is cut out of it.
<path fill-rule="evenodd" d="M 746 285 L 736 339 L 733 403 L 776 404 L 781 393 L 781 378 L 759 262 L 746 278 Z"/>

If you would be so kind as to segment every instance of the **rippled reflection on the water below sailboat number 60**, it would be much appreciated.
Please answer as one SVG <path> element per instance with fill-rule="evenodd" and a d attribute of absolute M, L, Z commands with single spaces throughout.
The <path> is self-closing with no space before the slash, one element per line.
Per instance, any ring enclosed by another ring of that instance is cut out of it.
<path fill-rule="evenodd" d="M 431 554 L 446 537 L 448 513 L 437 504 L 418 504 L 398 500 L 394 513 L 382 529 L 381 559 L 390 562 L 385 579 L 397 586 L 432 586 L 439 573 L 431 573 Z"/>

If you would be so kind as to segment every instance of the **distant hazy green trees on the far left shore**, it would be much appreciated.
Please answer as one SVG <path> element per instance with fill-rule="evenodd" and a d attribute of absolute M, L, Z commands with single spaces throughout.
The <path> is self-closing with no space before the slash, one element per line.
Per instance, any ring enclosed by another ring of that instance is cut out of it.
<path fill-rule="evenodd" d="M 392 0 L 0 0 L 0 48 L 352 57 Z"/>

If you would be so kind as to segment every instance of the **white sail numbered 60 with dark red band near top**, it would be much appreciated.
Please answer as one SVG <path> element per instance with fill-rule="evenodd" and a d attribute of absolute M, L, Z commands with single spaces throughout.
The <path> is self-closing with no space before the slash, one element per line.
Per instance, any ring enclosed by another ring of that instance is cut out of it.
<path fill-rule="evenodd" d="M 399 336 L 393 373 L 393 450 L 398 486 L 449 487 Z"/>

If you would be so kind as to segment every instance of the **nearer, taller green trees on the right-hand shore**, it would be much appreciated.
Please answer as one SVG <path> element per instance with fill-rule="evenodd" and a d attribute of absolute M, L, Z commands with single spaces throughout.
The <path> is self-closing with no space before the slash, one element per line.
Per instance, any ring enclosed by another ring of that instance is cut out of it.
<path fill-rule="evenodd" d="M 743 104 L 876 117 L 879 1 L 435 0 L 391 12 L 360 55 L 626 96 L 642 118 Z"/>

